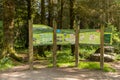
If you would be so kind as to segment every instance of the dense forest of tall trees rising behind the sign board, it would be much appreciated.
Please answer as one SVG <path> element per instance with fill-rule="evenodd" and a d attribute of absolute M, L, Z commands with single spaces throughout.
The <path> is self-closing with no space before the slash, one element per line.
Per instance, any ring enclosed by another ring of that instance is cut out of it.
<path fill-rule="evenodd" d="M 30 19 L 51 27 L 55 19 L 58 29 L 74 29 L 76 17 L 80 29 L 112 28 L 112 46 L 120 54 L 119 0 L 0 0 L 0 11 L 0 58 L 9 55 L 21 61 L 17 55 L 20 49 L 28 49 Z"/>

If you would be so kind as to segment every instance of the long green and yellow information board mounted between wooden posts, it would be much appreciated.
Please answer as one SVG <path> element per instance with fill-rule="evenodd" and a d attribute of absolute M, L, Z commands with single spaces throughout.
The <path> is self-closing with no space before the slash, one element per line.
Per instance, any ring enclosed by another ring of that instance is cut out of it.
<path fill-rule="evenodd" d="M 33 27 L 33 45 L 52 45 L 53 29 L 43 27 Z M 74 30 L 58 29 L 57 44 L 75 44 Z M 100 44 L 100 31 L 97 29 L 81 29 L 79 33 L 80 44 Z M 111 33 L 105 33 L 105 43 L 111 43 Z"/>

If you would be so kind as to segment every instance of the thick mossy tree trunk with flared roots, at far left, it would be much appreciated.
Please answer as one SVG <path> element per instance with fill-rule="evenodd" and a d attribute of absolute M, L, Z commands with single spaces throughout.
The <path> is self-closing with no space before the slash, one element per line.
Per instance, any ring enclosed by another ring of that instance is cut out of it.
<path fill-rule="evenodd" d="M 3 3 L 3 52 L 1 58 L 10 56 L 18 61 L 16 51 L 14 50 L 14 16 L 15 16 L 15 1 L 4 0 Z"/>

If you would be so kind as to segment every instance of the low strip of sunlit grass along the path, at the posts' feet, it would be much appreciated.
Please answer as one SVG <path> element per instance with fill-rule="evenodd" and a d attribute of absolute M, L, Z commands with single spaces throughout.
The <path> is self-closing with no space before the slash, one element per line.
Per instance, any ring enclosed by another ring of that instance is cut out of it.
<path fill-rule="evenodd" d="M 74 62 L 69 63 L 57 63 L 57 67 L 74 67 Z M 53 67 L 52 64 L 49 64 L 48 67 Z M 89 69 L 89 70 L 101 70 L 99 62 L 80 62 L 78 69 Z M 104 72 L 116 72 L 108 63 L 104 63 Z"/>

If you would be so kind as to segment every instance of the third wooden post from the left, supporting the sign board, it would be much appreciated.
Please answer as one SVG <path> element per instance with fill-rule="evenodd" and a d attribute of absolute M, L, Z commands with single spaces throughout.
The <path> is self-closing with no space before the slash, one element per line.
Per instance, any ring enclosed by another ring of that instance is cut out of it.
<path fill-rule="evenodd" d="M 79 64 L 79 22 L 75 30 L 75 66 Z"/>

